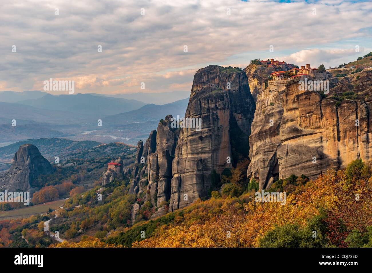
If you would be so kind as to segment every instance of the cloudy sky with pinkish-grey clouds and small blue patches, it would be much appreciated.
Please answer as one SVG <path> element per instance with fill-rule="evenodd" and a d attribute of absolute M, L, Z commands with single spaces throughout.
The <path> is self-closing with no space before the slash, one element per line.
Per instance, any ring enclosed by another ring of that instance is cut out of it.
<path fill-rule="evenodd" d="M 0 91 L 50 78 L 78 93 L 189 91 L 211 64 L 338 66 L 372 51 L 371 14 L 371 1 L 0 0 Z"/>

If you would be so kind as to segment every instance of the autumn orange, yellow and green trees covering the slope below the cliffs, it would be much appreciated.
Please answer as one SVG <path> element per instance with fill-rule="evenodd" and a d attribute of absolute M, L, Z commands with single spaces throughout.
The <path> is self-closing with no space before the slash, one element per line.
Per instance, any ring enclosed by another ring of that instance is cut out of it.
<path fill-rule="evenodd" d="M 126 194 L 128 182 L 106 188 L 113 193 L 105 201 L 96 201 L 94 191 L 76 195 L 64 206 L 63 221 L 69 223 L 65 236 L 84 243 L 63 246 L 372 246 L 371 166 L 362 160 L 343 170 L 331 169 L 315 181 L 305 175 L 277 181 L 268 191 L 286 191 L 285 205 L 256 202 L 257 183 L 235 170 L 224 179 L 228 184 L 211 192 L 210 199 L 154 220 L 146 220 L 149 205 L 133 226 L 130 204 L 135 197 Z M 97 244 L 97 239 L 106 244 Z"/>

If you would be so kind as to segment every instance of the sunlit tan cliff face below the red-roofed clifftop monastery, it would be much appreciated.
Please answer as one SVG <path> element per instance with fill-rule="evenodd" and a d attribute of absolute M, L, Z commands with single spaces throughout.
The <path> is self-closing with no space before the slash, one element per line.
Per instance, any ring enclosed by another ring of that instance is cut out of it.
<path fill-rule="evenodd" d="M 325 98 L 317 91 L 301 91 L 298 81 L 291 81 L 271 104 L 265 103 L 269 96 L 258 100 L 248 177 L 265 189 L 292 174 L 315 179 L 354 159 L 371 159 L 371 75 L 363 71 L 344 78 Z M 345 92 L 353 95 L 345 97 Z"/>

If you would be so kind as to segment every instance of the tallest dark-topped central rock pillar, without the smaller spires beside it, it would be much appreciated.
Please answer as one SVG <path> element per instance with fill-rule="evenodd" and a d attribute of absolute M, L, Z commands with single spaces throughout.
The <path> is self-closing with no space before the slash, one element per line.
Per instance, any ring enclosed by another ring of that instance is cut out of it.
<path fill-rule="evenodd" d="M 230 85 L 230 89 L 228 86 Z M 182 128 L 172 163 L 170 209 L 208 196 L 212 175 L 248 156 L 255 103 L 246 74 L 210 65 L 196 72 L 185 117 L 201 118 L 201 130 Z"/>

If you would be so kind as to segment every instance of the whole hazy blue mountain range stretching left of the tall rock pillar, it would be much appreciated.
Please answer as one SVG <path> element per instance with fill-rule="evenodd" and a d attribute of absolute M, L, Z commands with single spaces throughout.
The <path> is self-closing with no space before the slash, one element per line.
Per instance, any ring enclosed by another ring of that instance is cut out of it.
<path fill-rule="evenodd" d="M 168 93 L 171 98 L 174 92 L 161 93 L 160 97 Z M 142 93 L 147 100 L 153 95 Z M 157 105 L 101 94 L 3 91 L 0 92 L 0 143 L 7 145 L 24 139 L 68 137 L 72 140 L 137 144 L 156 128 L 161 118 L 169 114 L 183 117 L 188 101 L 186 98 Z M 13 119 L 17 122 L 16 127 L 12 126 Z M 102 120 L 102 127 L 97 127 L 98 119 Z"/>

